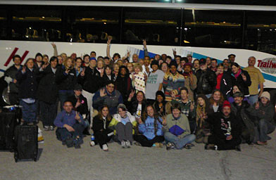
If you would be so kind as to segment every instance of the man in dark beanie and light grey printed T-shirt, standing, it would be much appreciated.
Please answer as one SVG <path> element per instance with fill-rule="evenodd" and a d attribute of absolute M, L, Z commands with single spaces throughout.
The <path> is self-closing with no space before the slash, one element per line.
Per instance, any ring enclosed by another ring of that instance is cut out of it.
<path fill-rule="evenodd" d="M 162 83 L 165 73 L 159 70 L 158 60 L 151 62 L 152 72 L 149 72 L 146 80 L 146 102 L 153 104 L 156 99 L 156 91 L 163 91 Z"/>

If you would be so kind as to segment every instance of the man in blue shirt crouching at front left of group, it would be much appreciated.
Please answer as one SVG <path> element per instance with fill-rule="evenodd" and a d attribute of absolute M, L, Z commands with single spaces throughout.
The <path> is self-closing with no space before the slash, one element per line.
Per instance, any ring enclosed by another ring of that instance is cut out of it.
<path fill-rule="evenodd" d="M 73 104 L 70 101 L 63 103 L 63 110 L 56 116 L 54 124 L 56 129 L 56 137 L 63 142 L 68 148 L 75 146 L 80 148 L 83 143 L 82 131 L 86 127 L 82 115 L 73 110 Z"/>

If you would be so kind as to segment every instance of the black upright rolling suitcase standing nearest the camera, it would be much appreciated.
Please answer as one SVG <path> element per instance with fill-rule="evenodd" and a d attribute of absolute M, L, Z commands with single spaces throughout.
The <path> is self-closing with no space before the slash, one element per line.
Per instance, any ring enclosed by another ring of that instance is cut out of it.
<path fill-rule="evenodd" d="M 37 161 L 37 133 L 37 125 L 18 125 L 15 127 L 15 162 L 25 159 Z"/>

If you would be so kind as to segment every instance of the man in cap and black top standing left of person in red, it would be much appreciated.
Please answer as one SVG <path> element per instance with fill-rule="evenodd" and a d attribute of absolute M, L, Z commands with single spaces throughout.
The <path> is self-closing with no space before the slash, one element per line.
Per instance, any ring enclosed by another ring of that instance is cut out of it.
<path fill-rule="evenodd" d="M 197 77 L 197 94 L 204 94 L 207 98 L 210 98 L 213 90 L 215 89 L 216 76 L 215 72 L 207 68 L 206 59 L 201 58 L 199 60 L 200 70 L 196 72 Z"/>

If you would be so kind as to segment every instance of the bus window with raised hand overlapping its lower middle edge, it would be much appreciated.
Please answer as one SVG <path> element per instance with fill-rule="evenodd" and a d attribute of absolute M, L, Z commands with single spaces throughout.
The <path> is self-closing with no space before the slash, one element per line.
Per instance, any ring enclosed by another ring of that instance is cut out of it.
<path fill-rule="evenodd" d="M 180 45 L 181 9 L 124 8 L 123 42 Z"/>

